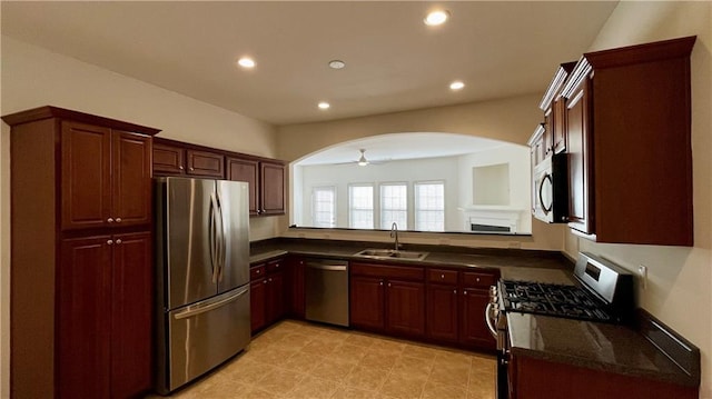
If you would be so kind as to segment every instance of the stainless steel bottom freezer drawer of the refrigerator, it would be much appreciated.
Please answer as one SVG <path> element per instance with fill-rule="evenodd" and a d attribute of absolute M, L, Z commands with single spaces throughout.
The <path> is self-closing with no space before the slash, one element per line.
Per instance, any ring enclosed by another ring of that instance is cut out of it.
<path fill-rule="evenodd" d="M 168 393 L 245 349 L 250 340 L 249 285 L 166 313 Z"/>

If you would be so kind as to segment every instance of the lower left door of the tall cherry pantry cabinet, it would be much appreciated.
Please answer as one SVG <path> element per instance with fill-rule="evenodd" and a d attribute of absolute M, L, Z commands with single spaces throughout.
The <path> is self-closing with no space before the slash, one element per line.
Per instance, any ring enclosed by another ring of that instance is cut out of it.
<path fill-rule="evenodd" d="M 61 242 L 56 360 L 60 398 L 111 397 L 112 243 L 109 236 Z"/>

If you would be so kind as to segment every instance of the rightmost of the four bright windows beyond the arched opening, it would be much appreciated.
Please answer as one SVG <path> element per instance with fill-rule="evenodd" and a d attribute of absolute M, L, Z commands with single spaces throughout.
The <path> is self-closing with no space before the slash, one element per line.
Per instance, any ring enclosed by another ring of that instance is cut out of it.
<path fill-rule="evenodd" d="M 445 183 L 428 181 L 414 184 L 415 229 L 418 231 L 445 230 Z"/>

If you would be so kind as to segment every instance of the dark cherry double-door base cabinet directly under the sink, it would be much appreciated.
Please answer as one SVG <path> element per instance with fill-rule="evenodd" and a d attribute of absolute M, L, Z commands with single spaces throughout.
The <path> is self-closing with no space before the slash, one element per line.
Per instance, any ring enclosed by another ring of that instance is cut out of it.
<path fill-rule="evenodd" d="M 350 265 L 350 325 L 389 335 L 425 336 L 424 269 Z"/>

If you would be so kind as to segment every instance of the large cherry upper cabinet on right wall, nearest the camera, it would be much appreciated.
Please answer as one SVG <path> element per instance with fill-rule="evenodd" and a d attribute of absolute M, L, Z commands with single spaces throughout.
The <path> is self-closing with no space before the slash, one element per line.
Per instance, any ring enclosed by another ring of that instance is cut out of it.
<path fill-rule="evenodd" d="M 693 245 L 694 41 L 590 52 L 576 63 L 562 90 L 574 231 L 599 242 Z"/>

